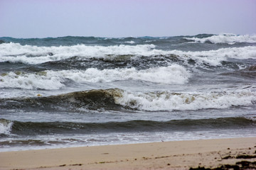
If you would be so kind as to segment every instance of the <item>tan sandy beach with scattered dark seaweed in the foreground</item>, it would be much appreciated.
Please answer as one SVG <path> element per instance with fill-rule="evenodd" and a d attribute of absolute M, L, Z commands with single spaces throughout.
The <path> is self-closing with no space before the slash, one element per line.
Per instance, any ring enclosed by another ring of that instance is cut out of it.
<path fill-rule="evenodd" d="M 0 160 L 0 169 L 255 169 L 256 137 L 0 152 Z"/>

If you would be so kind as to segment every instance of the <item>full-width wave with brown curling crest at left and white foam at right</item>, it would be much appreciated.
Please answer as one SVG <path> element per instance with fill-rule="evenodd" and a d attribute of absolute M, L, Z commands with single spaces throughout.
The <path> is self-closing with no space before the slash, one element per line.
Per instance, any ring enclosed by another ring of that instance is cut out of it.
<path fill-rule="evenodd" d="M 255 102 L 256 93 L 250 90 L 206 93 L 174 93 L 171 91 L 142 93 L 121 89 L 99 89 L 48 97 L 4 98 L 1 99 L 1 107 L 97 110 L 115 109 L 122 106 L 142 111 L 197 111 L 210 108 L 252 106 Z"/>

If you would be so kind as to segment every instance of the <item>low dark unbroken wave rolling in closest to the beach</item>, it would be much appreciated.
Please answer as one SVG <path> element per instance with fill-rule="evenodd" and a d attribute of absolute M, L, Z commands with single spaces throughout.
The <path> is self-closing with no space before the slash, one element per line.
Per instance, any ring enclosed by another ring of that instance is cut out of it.
<path fill-rule="evenodd" d="M 95 132 L 157 132 L 157 131 L 181 131 L 181 130 L 206 130 L 246 128 L 255 126 L 255 120 L 250 118 L 217 118 L 198 120 L 169 120 L 164 122 L 152 120 L 129 120 L 125 122 L 106 123 L 73 123 L 73 122 L 10 122 L 13 135 L 53 135 L 53 134 L 91 134 Z M 1 125 L 1 123 L 0 123 Z M 6 134 L 6 135 L 9 135 Z M 15 140 L 14 140 L 15 142 Z M 17 141 L 18 142 L 18 141 Z"/>

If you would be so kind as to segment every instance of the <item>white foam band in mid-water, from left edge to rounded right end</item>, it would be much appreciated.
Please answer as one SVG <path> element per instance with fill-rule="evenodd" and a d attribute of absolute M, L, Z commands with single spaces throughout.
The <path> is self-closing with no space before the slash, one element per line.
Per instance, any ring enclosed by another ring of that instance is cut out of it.
<path fill-rule="evenodd" d="M 95 69 L 86 70 L 61 70 L 38 72 L 36 74 L 9 72 L 0 75 L 0 88 L 20 89 L 60 89 L 65 86 L 68 79 L 77 83 L 98 83 L 110 81 L 122 81 L 127 79 L 151 81 L 163 84 L 184 84 L 188 81 L 190 73 L 180 65 L 169 67 L 155 67 L 137 70 L 125 69 Z"/>

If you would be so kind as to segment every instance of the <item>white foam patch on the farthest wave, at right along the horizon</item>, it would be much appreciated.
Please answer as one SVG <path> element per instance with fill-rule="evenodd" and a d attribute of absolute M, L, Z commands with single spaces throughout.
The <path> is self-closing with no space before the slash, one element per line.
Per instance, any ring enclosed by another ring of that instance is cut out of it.
<path fill-rule="evenodd" d="M 223 35 L 213 35 L 208 38 L 185 38 L 186 40 L 193 40 L 194 42 L 212 42 L 217 43 L 227 43 L 230 45 L 235 44 L 236 42 L 247 42 L 255 43 L 256 35 L 233 35 L 233 34 L 223 34 Z"/>

